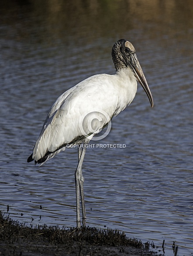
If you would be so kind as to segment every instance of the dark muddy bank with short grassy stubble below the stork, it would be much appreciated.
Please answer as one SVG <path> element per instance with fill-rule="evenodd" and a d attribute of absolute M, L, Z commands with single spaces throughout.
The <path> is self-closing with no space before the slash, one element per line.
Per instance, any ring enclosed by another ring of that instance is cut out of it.
<path fill-rule="evenodd" d="M 30 227 L 0 212 L 0 255 L 6 256 L 155 256 L 149 243 L 131 239 L 118 230 L 86 227 L 65 230 L 57 226 Z"/>

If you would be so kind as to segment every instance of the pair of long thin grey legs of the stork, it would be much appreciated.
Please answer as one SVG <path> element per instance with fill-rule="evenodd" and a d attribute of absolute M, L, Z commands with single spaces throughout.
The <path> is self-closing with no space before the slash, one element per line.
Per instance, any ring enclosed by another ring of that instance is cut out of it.
<path fill-rule="evenodd" d="M 83 182 L 84 178 L 82 176 L 82 163 L 84 160 L 84 156 L 86 153 L 86 144 L 82 144 L 83 147 L 78 148 L 78 157 L 79 163 L 75 171 L 75 185 L 76 185 L 76 222 L 77 228 L 80 228 L 80 197 L 82 204 L 82 225 L 86 224 L 86 210 L 85 210 L 85 202 L 84 202 L 84 190 L 83 190 Z"/>

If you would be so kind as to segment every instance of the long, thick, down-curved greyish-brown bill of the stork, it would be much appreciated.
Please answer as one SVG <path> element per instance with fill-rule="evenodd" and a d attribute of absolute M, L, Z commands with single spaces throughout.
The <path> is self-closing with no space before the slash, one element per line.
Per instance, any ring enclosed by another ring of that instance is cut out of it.
<path fill-rule="evenodd" d="M 143 70 L 139 64 L 139 60 L 137 59 L 136 53 L 131 54 L 130 65 L 131 65 L 132 70 L 135 73 L 136 78 L 138 79 L 139 83 L 141 84 L 144 91 L 146 92 L 146 94 L 150 100 L 151 107 L 153 108 L 154 107 L 153 97 L 151 95 L 150 88 L 147 84 L 146 78 L 143 74 Z"/>

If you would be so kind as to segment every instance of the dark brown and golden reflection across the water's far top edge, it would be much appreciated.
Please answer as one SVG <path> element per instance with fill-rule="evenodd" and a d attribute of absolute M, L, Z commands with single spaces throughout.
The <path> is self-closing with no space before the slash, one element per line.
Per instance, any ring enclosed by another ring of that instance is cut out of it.
<path fill-rule="evenodd" d="M 9 25 L 4 37 L 19 41 L 54 43 L 62 39 L 71 44 L 72 39 L 76 44 L 76 40 L 83 43 L 86 38 L 89 43 L 101 37 L 121 38 L 136 29 L 146 30 L 151 39 L 161 34 L 178 37 L 178 31 L 191 38 L 191 0 L 186 4 L 181 0 L 20 0 L 1 5 L 1 23 Z"/>

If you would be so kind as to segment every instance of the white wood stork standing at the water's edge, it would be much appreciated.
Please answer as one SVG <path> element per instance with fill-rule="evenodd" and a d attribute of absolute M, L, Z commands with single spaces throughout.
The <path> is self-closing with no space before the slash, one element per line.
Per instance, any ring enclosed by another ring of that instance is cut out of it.
<path fill-rule="evenodd" d="M 76 221 L 80 228 L 80 197 L 82 225 L 86 225 L 82 162 L 92 137 L 134 99 L 137 81 L 142 85 L 153 107 L 153 98 L 140 67 L 133 45 L 121 39 L 112 48 L 116 73 L 96 74 L 63 93 L 50 108 L 41 133 L 28 162 L 42 165 L 64 151 L 67 145 L 78 147 L 78 166 L 75 171 Z M 88 126 L 88 122 L 92 123 Z M 83 129 L 82 129 L 83 128 Z"/>

